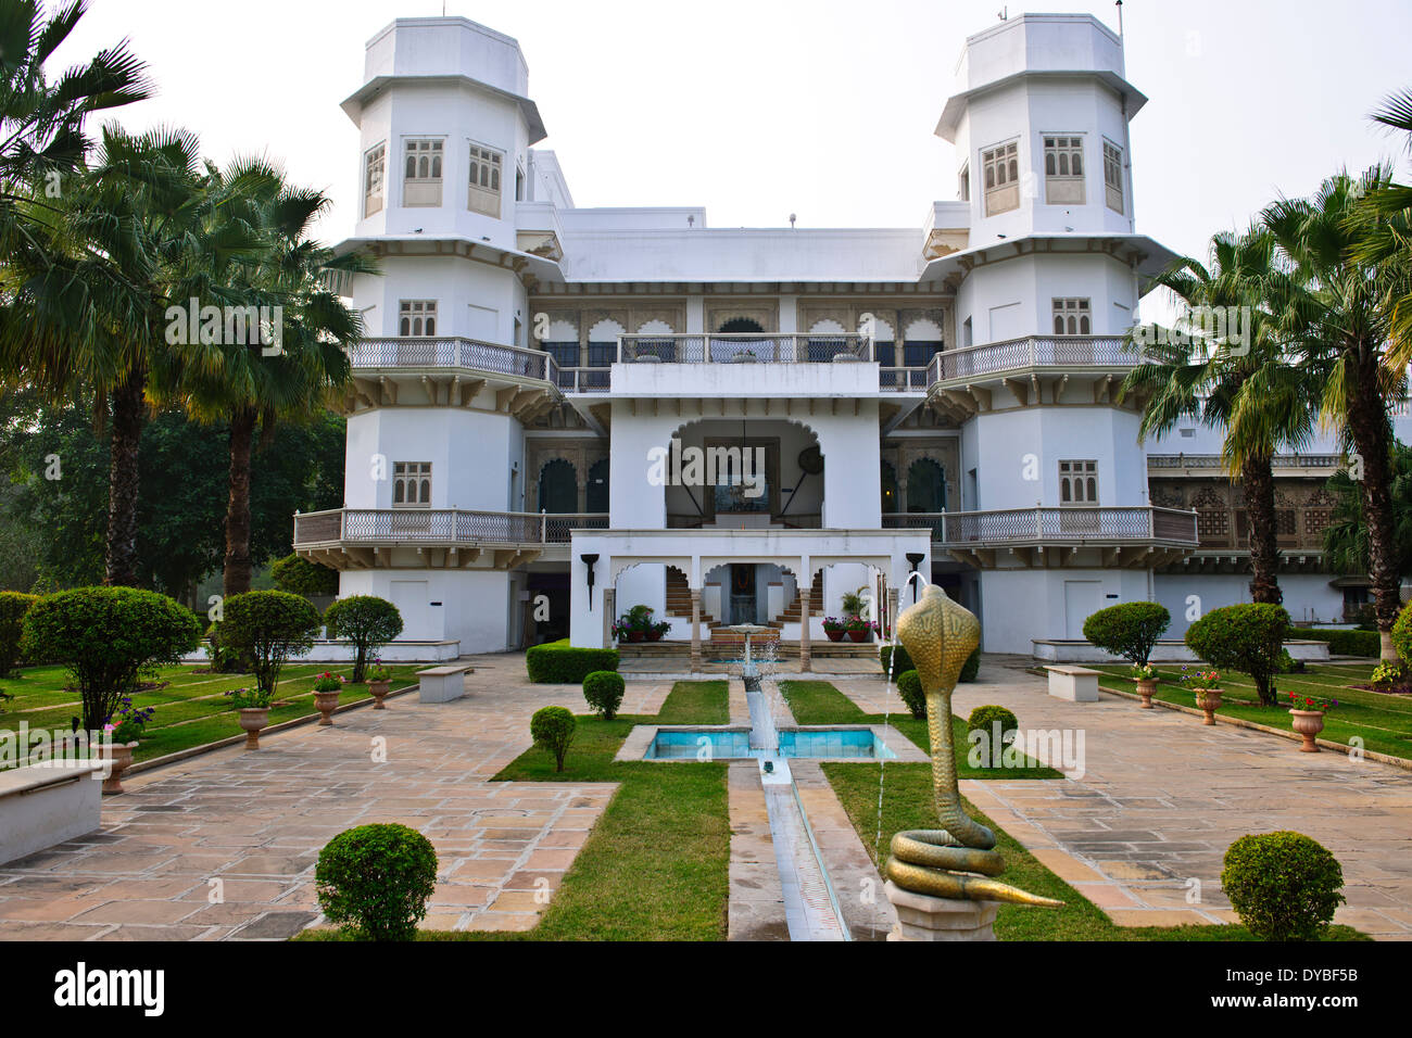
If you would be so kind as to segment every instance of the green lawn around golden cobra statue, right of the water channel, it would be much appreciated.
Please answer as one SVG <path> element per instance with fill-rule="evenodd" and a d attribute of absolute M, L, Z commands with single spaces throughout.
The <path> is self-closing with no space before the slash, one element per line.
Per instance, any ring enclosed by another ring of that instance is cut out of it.
<path fill-rule="evenodd" d="M 849 812 L 863 846 L 873 854 L 878 822 L 877 764 L 839 764 L 826 761 L 827 775 L 839 801 Z M 976 811 L 966 811 L 988 825 L 997 835 L 997 850 L 1004 853 L 1007 870 L 1000 878 L 1031 894 L 1058 898 L 1063 908 L 1027 908 L 1001 905 L 995 917 L 995 936 L 1001 941 L 1255 941 L 1244 926 L 1118 926 L 1073 887 L 1045 869 L 1028 850 L 1003 829 Z M 932 775 L 928 764 L 888 764 L 882 795 L 882 857 L 892 833 L 904 829 L 935 829 L 932 811 Z M 881 864 L 881 863 L 880 863 Z M 1333 941 L 1365 941 L 1351 926 L 1333 926 Z"/>

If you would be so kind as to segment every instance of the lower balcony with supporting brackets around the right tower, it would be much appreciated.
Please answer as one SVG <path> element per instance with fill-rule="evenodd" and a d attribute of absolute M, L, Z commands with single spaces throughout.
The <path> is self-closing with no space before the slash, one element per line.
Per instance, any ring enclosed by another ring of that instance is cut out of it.
<path fill-rule="evenodd" d="M 1142 507 L 1036 507 L 882 515 L 890 530 L 931 530 L 932 544 L 977 569 L 1166 565 L 1197 548 L 1196 513 Z M 1089 563 L 1077 562 L 1080 549 Z"/>

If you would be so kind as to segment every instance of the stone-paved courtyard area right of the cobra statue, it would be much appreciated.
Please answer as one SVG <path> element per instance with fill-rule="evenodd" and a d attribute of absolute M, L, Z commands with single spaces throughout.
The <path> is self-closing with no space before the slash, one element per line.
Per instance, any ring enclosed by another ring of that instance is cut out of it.
<path fill-rule="evenodd" d="M 881 712 L 881 681 L 836 684 Z M 1337 922 L 1412 939 L 1412 772 L 1107 693 L 1052 699 L 1041 678 L 988 658 L 979 682 L 957 686 L 953 709 L 984 703 L 1014 710 L 1022 730 L 1082 732 L 1082 775 L 963 781 L 962 794 L 1118 925 L 1234 922 L 1220 887 L 1226 849 L 1245 833 L 1293 829 L 1343 866 L 1348 904 Z M 904 709 L 895 692 L 890 706 Z"/>

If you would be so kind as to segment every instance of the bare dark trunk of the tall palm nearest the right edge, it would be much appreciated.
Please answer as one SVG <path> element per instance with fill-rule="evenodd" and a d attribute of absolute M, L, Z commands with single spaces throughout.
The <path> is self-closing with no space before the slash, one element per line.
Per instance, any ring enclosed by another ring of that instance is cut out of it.
<path fill-rule="evenodd" d="M 1368 579 L 1382 636 L 1382 658 L 1396 662 L 1392 623 L 1401 607 L 1395 520 L 1392 508 L 1392 445 L 1388 408 L 1378 386 L 1378 364 L 1360 362 L 1357 384 L 1348 395 L 1348 435 L 1363 467 L 1363 521 L 1368 525 Z M 1354 473 L 1357 475 L 1357 472 Z"/>

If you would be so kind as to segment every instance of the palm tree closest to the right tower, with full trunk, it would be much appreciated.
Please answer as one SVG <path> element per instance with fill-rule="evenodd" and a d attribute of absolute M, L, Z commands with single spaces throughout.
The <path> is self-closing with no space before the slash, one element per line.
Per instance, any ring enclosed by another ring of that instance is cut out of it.
<path fill-rule="evenodd" d="M 1209 266 L 1183 257 L 1159 274 L 1155 284 L 1180 302 L 1183 312 L 1173 332 L 1189 332 L 1190 343 L 1171 332 L 1166 342 L 1147 343 L 1145 359 L 1124 378 L 1118 400 L 1128 393 L 1144 397 L 1144 438 L 1165 435 L 1183 418 L 1224 431 L 1226 470 L 1244 484 L 1250 515 L 1251 599 L 1279 604 L 1284 593 L 1271 462 L 1279 446 L 1308 439 L 1310 421 L 1308 407 L 1300 405 L 1308 394 L 1300 380 L 1286 377 L 1289 369 L 1281 363 L 1281 347 L 1272 335 L 1271 306 L 1286 291 L 1274 241 L 1260 227 L 1216 234 Z M 1193 321 L 1203 312 L 1199 308 L 1230 306 L 1245 308 L 1250 315 L 1247 342 L 1221 345 L 1203 338 L 1207 323 Z M 1260 384 L 1262 393 L 1247 393 L 1251 383 Z M 1250 418 L 1236 425 L 1233 419 L 1243 400 L 1262 407 L 1248 408 Z"/>

